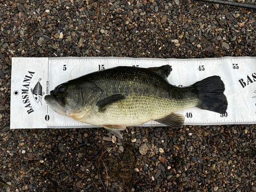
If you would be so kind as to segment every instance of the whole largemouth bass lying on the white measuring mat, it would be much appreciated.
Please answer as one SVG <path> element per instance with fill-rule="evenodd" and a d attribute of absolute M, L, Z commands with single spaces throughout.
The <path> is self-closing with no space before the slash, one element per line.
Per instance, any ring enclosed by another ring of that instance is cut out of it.
<path fill-rule="evenodd" d="M 186 108 L 226 112 L 228 103 L 220 76 L 177 87 L 167 81 L 171 71 L 169 65 L 96 71 L 59 84 L 45 101 L 54 112 L 104 127 L 121 139 L 120 131 L 127 126 L 150 120 L 181 128 L 185 118 L 175 112 Z"/>

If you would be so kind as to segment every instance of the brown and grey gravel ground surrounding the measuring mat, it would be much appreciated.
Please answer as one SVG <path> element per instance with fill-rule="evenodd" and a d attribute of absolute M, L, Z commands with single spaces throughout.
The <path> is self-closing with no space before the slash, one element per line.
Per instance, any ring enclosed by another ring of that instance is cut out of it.
<path fill-rule="evenodd" d="M 254 125 L 9 130 L 12 57 L 256 56 L 255 18 L 190 0 L 0 0 L 1 191 L 256 191 Z"/>

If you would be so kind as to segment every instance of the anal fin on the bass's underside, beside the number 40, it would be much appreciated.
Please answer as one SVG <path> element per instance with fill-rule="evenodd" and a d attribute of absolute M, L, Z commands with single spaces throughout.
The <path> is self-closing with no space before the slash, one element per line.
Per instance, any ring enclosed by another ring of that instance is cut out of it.
<path fill-rule="evenodd" d="M 156 119 L 155 121 L 163 123 L 173 128 L 181 128 L 184 124 L 185 117 L 179 113 L 171 113 L 162 119 Z"/>

